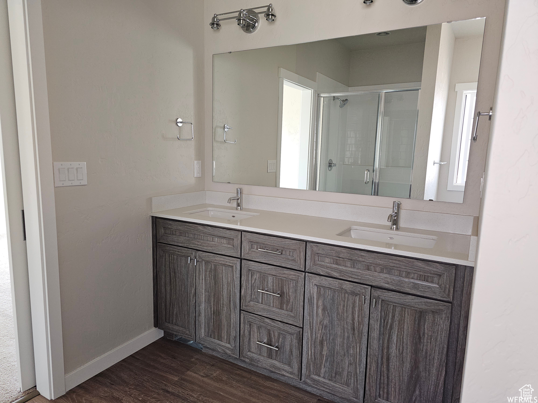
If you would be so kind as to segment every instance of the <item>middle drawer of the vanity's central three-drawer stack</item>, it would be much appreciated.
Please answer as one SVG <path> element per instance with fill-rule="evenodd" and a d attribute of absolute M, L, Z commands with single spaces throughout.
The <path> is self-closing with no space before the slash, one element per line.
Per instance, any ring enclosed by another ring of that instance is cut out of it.
<path fill-rule="evenodd" d="M 305 273 L 243 261 L 241 309 L 302 326 Z"/>

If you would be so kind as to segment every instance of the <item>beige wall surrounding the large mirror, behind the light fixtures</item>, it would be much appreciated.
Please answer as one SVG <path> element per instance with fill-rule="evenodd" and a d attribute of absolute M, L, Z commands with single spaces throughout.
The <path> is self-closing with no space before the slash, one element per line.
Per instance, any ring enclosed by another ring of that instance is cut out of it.
<path fill-rule="evenodd" d="M 257 6 L 254 1 L 206 0 L 204 25 L 214 13 Z M 275 4 L 277 19 L 274 23 L 262 20 L 258 31 L 245 34 L 231 21 L 224 21 L 218 31 L 204 28 L 206 77 L 206 189 L 235 192 L 237 184 L 215 183 L 211 179 L 211 57 L 215 53 L 257 49 L 268 46 L 298 44 L 314 40 L 340 38 L 363 33 L 390 31 L 414 26 L 440 24 L 486 17 L 484 49 L 480 63 L 477 106 L 486 110 L 493 102 L 497 63 L 499 60 L 502 19 L 505 0 L 428 0 L 417 6 L 408 6 L 401 0 L 375 1 L 370 6 L 357 0 L 327 2 L 323 0 L 294 0 Z M 480 205 L 480 179 L 485 164 L 489 124 L 479 129 L 479 140 L 471 147 L 469 190 L 463 204 L 405 200 L 403 210 L 423 210 L 454 214 L 478 215 Z M 478 172 L 480 174 L 478 174 Z M 346 195 L 343 193 L 313 190 L 275 189 L 265 186 L 243 186 L 245 194 L 267 195 L 357 205 L 392 205 L 392 198 L 382 196 Z"/>

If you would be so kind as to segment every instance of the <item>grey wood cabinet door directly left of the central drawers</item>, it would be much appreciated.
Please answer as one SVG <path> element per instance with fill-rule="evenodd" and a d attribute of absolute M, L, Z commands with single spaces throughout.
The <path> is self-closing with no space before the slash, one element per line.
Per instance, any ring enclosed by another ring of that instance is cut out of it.
<path fill-rule="evenodd" d="M 196 253 L 196 341 L 239 356 L 239 259 Z"/>

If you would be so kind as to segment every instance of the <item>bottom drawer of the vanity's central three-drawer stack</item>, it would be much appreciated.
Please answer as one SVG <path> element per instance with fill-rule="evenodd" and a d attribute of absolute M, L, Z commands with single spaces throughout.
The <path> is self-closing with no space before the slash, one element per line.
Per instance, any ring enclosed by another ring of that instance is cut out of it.
<path fill-rule="evenodd" d="M 300 379 L 302 329 L 241 312 L 239 357 L 252 365 Z"/>

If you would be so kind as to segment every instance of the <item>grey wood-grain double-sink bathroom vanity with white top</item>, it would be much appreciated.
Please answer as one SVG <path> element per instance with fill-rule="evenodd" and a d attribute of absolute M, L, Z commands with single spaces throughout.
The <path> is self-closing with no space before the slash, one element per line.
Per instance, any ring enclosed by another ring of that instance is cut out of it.
<path fill-rule="evenodd" d="M 195 207 L 152 213 L 167 337 L 337 402 L 459 401 L 473 268 L 438 256 L 456 238 L 399 250 L 342 220 Z"/>

